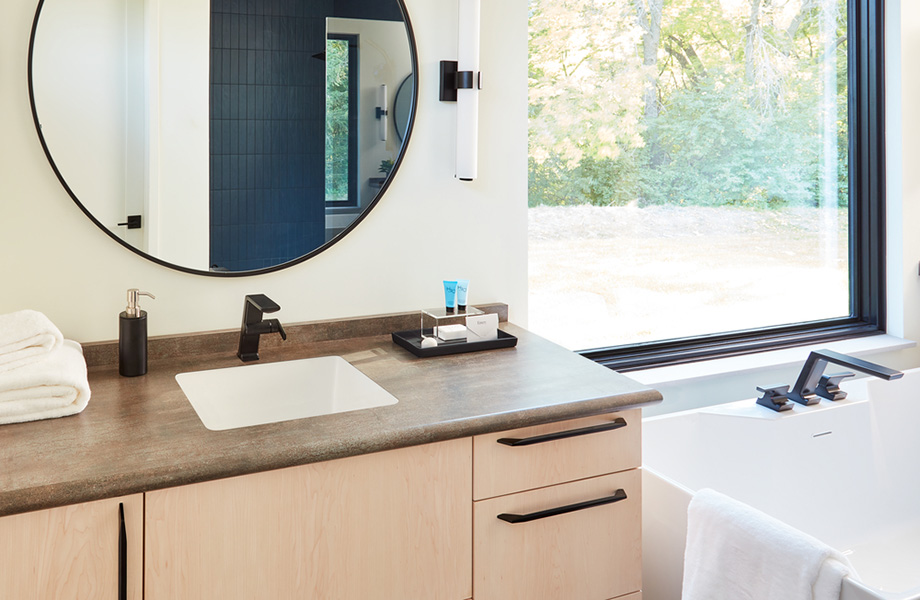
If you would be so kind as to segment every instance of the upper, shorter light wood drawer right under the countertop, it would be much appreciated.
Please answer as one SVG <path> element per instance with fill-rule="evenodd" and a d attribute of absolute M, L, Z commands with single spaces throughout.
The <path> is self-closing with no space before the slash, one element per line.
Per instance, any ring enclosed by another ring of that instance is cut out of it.
<path fill-rule="evenodd" d="M 621 426 L 607 429 L 617 425 Z M 473 499 L 638 467 L 640 431 L 641 413 L 636 408 L 477 435 L 473 438 Z M 561 439 L 551 437 L 560 433 L 575 435 Z M 509 439 L 524 441 L 510 446 L 506 445 Z M 499 440 L 506 443 L 499 443 Z"/>

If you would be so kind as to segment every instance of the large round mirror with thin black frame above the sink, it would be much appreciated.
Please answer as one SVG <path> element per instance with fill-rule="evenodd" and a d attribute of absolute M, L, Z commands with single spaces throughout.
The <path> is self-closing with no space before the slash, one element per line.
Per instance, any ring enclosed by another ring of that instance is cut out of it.
<path fill-rule="evenodd" d="M 249 275 L 321 252 L 380 200 L 416 65 L 402 0 L 41 0 L 29 94 L 103 231 L 182 271 Z"/>

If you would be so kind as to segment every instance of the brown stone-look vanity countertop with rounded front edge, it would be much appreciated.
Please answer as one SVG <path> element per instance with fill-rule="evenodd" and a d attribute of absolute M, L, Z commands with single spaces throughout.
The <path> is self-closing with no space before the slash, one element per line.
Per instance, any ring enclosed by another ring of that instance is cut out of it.
<path fill-rule="evenodd" d="M 419 359 L 389 335 L 263 348 L 261 362 L 340 355 L 392 406 L 209 431 L 177 373 L 240 365 L 233 353 L 151 360 L 143 377 L 90 368 L 71 417 L 0 426 L 0 516 L 437 442 L 658 402 L 648 387 L 509 323 L 514 348 Z M 291 336 L 293 337 L 293 336 Z"/>

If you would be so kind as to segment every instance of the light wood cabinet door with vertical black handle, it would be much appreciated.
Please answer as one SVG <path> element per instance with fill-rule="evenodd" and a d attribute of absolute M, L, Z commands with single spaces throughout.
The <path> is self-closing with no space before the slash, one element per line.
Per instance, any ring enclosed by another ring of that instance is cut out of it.
<path fill-rule="evenodd" d="M 141 600 L 143 513 L 137 494 L 0 518 L 0 598 Z"/>

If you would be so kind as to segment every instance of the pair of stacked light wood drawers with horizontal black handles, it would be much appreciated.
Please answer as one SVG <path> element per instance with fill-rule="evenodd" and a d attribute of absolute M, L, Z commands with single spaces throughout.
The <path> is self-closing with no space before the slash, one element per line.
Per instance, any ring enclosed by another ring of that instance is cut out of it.
<path fill-rule="evenodd" d="M 473 438 L 474 600 L 641 599 L 640 417 Z"/>

